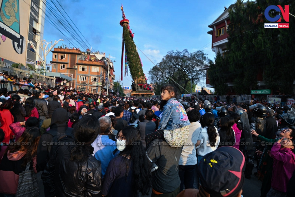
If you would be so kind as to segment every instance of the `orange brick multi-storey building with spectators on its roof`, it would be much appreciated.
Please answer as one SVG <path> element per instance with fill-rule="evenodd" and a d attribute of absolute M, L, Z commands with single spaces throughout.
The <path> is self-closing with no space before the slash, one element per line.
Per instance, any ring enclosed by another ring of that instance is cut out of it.
<path fill-rule="evenodd" d="M 114 66 L 110 61 L 107 77 L 108 58 L 102 56 L 98 59 L 96 54 L 84 53 L 77 48 L 58 47 L 52 53 L 52 72 L 71 77 L 72 81 L 67 85 L 79 91 L 101 94 L 106 91 L 109 80 L 109 92 L 113 92 Z"/>

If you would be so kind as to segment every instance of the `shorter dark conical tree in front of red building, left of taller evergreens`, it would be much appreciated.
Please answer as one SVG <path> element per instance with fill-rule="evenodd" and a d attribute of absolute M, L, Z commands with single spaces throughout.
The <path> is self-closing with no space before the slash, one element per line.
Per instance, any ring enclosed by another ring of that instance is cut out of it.
<path fill-rule="evenodd" d="M 226 59 L 222 57 L 221 53 L 217 53 L 215 63 L 209 62 L 210 69 L 208 69 L 208 78 L 210 85 L 212 85 L 219 95 L 227 93 L 227 82 L 229 80 L 229 66 Z"/>

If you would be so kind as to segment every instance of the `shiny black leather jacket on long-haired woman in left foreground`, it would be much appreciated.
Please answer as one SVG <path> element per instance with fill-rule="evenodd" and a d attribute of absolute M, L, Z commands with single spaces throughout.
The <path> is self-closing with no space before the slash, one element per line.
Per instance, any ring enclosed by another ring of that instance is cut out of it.
<path fill-rule="evenodd" d="M 49 196 L 101 196 L 101 163 L 91 154 L 84 162 L 71 161 L 73 145 L 58 147 L 42 173 Z"/>

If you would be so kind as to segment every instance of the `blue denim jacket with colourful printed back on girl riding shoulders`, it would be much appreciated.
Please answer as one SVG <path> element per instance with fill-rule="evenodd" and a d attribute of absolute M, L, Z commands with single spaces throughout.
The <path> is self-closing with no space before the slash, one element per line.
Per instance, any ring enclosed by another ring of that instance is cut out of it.
<path fill-rule="evenodd" d="M 183 105 L 176 98 L 169 99 L 164 105 L 159 129 L 174 130 L 188 125 L 190 122 Z"/>

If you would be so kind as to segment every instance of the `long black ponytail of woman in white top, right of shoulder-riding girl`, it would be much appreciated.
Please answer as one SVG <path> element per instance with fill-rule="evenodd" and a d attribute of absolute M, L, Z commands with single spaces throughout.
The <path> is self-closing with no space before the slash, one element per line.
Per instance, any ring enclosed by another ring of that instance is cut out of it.
<path fill-rule="evenodd" d="M 214 127 L 214 115 L 212 113 L 205 113 L 200 118 L 200 123 L 202 127 L 207 126 L 207 133 L 209 136 L 210 146 L 215 147 L 216 143 L 216 128 Z"/>

